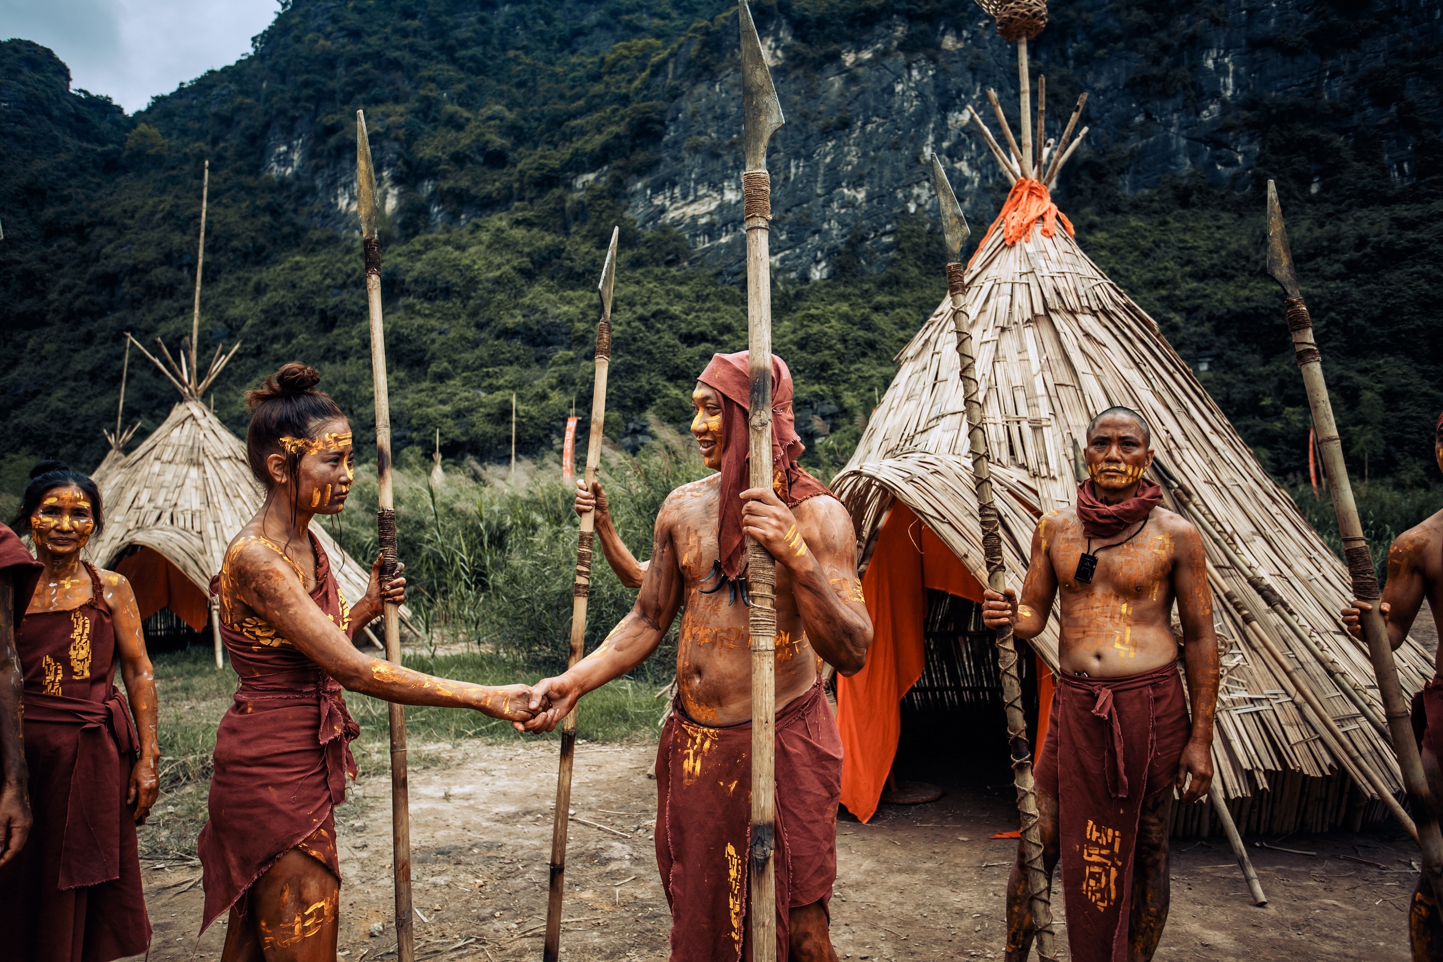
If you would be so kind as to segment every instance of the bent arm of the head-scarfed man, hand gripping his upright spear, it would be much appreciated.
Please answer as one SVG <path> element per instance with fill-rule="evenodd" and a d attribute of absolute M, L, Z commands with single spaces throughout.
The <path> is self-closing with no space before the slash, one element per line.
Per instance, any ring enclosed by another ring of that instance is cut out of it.
<path fill-rule="evenodd" d="M 857 578 L 851 516 L 834 498 L 788 508 L 771 487 L 742 492 L 742 534 L 756 538 L 792 575 L 792 597 L 812 650 L 856 675 L 872 648 L 872 616 Z"/>

